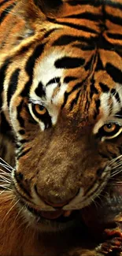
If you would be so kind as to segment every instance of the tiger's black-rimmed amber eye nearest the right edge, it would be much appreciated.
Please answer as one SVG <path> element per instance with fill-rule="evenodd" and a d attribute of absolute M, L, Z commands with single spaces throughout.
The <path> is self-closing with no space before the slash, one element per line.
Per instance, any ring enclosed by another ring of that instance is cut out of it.
<path fill-rule="evenodd" d="M 104 124 L 98 130 L 98 134 L 101 137 L 107 137 L 108 139 L 112 139 L 117 135 L 119 135 L 121 131 L 122 131 L 122 128 L 119 124 L 109 123 L 109 124 Z"/>

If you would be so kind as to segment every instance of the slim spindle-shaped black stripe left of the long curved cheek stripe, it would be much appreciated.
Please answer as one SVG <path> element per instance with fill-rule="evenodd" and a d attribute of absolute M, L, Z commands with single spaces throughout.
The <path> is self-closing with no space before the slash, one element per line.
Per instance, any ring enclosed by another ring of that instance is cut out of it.
<path fill-rule="evenodd" d="M 8 89 L 8 92 L 7 92 L 8 106 L 9 106 L 9 103 L 10 103 L 10 99 L 12 98 L 14 92 L 16 91 L 19 75 L 20 75 L 20 69 L 16 69 L 15 71 L 13 71 L 13 74 L 10 76 L 9 89 Z"/>

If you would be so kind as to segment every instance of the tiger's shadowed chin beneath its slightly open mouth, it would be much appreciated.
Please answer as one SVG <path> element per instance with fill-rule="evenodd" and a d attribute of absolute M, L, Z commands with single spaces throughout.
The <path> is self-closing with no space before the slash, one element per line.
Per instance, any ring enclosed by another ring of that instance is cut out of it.
<path fill-rule="evenodd" d="M 79 226 L 79 210 L 42 211 L 26 206 L 23 214 L 28 224 L 40 232 L 59 232 Z"/>

